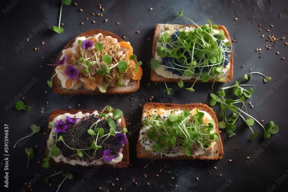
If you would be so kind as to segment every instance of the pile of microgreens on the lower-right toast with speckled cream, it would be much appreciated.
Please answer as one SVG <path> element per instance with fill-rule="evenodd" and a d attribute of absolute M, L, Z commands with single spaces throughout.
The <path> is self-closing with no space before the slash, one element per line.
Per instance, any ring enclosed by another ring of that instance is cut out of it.
<path fill-rule="evenodd" d="M 176 115 L 174 110 L 168 115 L 166 120 L 160 119 L 157 115 L 152 115 L 145 121 L 146 137 L 154 142 L 153 151 L 164 153 L 173 145 L 181 145 L 186 155 L 190 156 L 191 151 L 198 145 L 201 148 L 211 145 L 210 141 L 217 142 L 219 136 L 215 133 L 215 122 L 203 122 L 204 113 L 195 110 L 191 114 L 189 110 L 184 110 L 180 115 Z"/>

